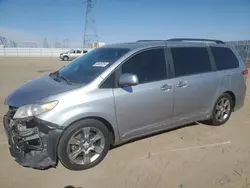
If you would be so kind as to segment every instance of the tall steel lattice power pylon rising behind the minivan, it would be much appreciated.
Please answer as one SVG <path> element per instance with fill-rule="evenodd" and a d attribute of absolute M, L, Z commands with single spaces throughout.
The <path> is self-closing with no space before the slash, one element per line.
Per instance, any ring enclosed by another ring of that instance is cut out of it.
<path fill-rule="evenodd" d="M 86 16 L 83 36 L 83 48 L 90 48 L 93 43 L 98 42 L 95 19 L 93 15 L 93 3 L 96 0 L 82 0 L 86 3 Z"/>

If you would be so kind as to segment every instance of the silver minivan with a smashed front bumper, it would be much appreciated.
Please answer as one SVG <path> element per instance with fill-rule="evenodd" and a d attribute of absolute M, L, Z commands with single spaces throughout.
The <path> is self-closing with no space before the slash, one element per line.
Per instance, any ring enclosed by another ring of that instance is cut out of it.
<path fill-rule="evenodd" d="M 248 70 L 219 40 L 141 40 L 96 48 L 15 89 L 4 127 L 15 160 L 84 170 L 110 146 L 203 121 L 222 125 L 244 105 Z"/>

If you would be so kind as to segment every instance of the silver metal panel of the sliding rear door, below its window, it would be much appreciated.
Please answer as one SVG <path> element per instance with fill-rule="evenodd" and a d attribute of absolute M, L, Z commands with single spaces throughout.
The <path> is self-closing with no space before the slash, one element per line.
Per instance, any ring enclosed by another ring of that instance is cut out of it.
<path fill-rule="evenodd" d="M 219 76 L 215 72 L 174 79 L 175 105 L 173 125 L 205 119 L 210 115 L 216 98 Z M 186 82 L 186 87 L 178 87 Z"/>

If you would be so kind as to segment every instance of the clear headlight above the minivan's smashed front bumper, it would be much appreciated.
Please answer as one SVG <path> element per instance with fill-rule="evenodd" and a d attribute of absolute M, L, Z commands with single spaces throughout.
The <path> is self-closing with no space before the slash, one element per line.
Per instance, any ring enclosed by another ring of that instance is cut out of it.
<path fill-rule="evenodd" d="M 18 108 L 14 115 L 14 119 L 18 118 L 27 118 L 32 116 L 38 116 L 42 113 L 48 112 L 55 108 L 58 104 L 58 101 L 53 101 L 44 104 L 29 104 Z"/>

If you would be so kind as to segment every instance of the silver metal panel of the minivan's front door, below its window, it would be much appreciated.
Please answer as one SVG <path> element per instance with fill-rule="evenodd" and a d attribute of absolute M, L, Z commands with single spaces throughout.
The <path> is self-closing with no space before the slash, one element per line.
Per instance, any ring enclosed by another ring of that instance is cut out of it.
<path fill-rule="evenodd" d="M 114 89 L 117 125 L 122 139 L 143 135 L 171 125 L 173 90 L 162 91 L 170 81 Z"/>

